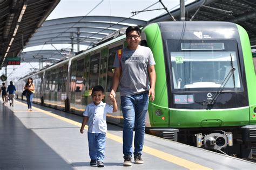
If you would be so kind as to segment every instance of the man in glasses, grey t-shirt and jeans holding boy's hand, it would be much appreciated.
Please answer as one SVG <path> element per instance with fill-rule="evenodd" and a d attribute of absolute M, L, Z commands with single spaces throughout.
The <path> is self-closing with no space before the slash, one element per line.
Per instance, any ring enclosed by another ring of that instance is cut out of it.
<path fill-rule="evenodd" d="M 123 166 L 131 166 L 132 138 L 134 136 L 134 161 L 143 164 L 141 158 L 145 118 L 150 100 L 154 100 L 154 86 L 156 72 L 154 70 L 153 54 L 148 47 L 140 46 L 142 31 L 138 26 L 129 26 L 126 29 L 128 46 L 123 52 L 118 52 L 114 60 L 114 76 L 110 98 L 116 97 L 116 90 L 120 81 L 121 106 L 124 117 L 123 128 Z M 122 76 L 121 76 L 122 75 Z"/>

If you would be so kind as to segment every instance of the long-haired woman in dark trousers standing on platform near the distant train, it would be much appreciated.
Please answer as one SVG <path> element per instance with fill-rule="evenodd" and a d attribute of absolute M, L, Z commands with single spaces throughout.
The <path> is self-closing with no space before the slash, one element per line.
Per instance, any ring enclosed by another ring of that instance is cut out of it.
<path fill-rule="evenodd" d="M 33 79 L 29 77 L 28 82 L 26 82 L 24 89 L 26 90 L 26 102 L 28 103 L 28 111 L 32 111 L 32 98 L 35 93 L 35 84 Z"/>

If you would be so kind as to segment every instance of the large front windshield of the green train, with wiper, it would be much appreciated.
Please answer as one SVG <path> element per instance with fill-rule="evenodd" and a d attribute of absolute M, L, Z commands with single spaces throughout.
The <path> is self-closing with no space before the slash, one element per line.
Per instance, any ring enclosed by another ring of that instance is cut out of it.
<path fill-rule="evenodd" d="M 235 40 L 170 40 L 167 43 L 174 90 L 216 90 L 224 84 L 224 90 L 241 90 Z M 233 73 L 232 68 L 235 68 Z"/>

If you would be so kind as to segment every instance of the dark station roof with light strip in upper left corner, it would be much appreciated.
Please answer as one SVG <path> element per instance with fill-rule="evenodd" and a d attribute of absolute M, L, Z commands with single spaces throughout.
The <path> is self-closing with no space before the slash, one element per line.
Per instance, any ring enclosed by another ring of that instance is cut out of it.
<path fill-rule="evenodd" d="M 0 0 L 0 69 L 17 56 L 60 0 Z"/>

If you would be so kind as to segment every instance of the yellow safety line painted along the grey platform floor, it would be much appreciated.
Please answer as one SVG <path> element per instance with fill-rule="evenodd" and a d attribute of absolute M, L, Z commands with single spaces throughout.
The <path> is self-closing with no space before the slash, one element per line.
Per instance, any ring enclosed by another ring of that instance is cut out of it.
<path fill-rule="evenodd" d="M 18 101 L 16 101 L 16 102 L 18 102 Z M 26 104 L 24 104 L 22 102 L 18 102 L 18 103 L 26 105 Z M 42 109 L 39 109 L 39 108 L 36 108 L 36 107 L 33 107 L 33 110 L 37 110 L 37 111 L 43 112 L 46 115 L 50 115 L 52 117 L 55 117 L 55 118 L 60 119 L 62 121 L 65 121 L 65 122 L 68 122 L 70 124 L 76 125 L 78 127 L 80 127 L 82 125 L 82 123 L 78 123 L 76 121 L 72 121 L 72 120 L 70 120 L 68 118 L 65 118 L 65 117 L 62 117 L 62 116 L 59 116 L 59 115 L 56 115 L 56 114 L 52 114 L 49 111 L 45 111 L 45 110 L 42 110 Z M 119 137 L 119 136 L 116 136 L 114 134 L 111 134 L 111 133 L 107 132 L 106 133 L 106 137 L 111 139 L 111 140 L 117 141 L 118 143 L 123 143 L 123 138 Z M 166 153 L 166 152 L 163 152 L 163 151 L 159 151 L 159 150 L 156 150 L 156 149 L 154 149 L 152 147 L 148 147 L 148 146 L 145 146 L 145 145 L 143 147 L 143 152 L 145 152 L 147 154 L 151 154 L 154 157 L 157 157 L 157 158 L 160 158 L 160 159 L 172 162 L 173 164 L 182 166 L 182 167 L 187 168 L 187 169 L 200 169 L 200 170 L 203 170 L 203 169 L 210 170 L 211 169 L 211 168 L 205 167 L 203 165 L 196 164 L 196 163 L 188 161 L 186 159 L 176 157 L 176 156 L 174 156 L 172 154 L 169 154 L 169 153 Z"/>

